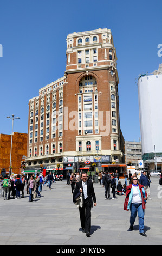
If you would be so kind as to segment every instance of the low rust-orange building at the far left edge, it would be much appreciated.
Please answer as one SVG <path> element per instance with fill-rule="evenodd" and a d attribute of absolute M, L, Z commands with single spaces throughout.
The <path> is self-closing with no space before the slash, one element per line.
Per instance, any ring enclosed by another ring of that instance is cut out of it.
<path fill-rule="evenodd" d="M 13 173 L 20 173 L 22 157 L 27 156 L 27 138 L 26 133 L 14 132 L 12 137 L 12 155 L 11 166 Z M 0 173 L 5 169 L 9 174 L 10 168 L 10 150 L 11 135 L 0 134 Z"/>

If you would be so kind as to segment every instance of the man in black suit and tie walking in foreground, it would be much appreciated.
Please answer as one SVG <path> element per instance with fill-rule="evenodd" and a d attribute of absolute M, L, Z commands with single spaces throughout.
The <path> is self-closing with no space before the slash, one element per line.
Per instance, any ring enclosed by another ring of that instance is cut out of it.
<path fill-rule="evenodd" d="M 90 237 L 91 227 L 91 208 L 96 206 L 96 197 L 94 193 L 93 183 L 87 179 L 87 173 L 81 174 L 81 181 L 76 183 L 75 190 L 80 190 L 83 197 L 83 206 L 79 208 L 80 221 L 83 232 Z M 93 201 L 92 201 L 93 198 Z"/>

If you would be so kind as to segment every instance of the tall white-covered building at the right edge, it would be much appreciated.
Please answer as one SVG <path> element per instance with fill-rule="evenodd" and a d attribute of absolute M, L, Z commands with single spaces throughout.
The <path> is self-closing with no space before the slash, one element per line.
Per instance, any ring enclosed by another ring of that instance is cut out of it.
<path fill-rule="evenodd" d="M 138 79 L 139 116 L 142 153 L 149 169 L 155 168 L 155 152 L 158 169 L 162 166 L 162 65 L 152 75 L 142 75 Z M 154 150 L 155 146 L 155 150 Z M 161 163 L 160 163 L 161 162 Z"/>

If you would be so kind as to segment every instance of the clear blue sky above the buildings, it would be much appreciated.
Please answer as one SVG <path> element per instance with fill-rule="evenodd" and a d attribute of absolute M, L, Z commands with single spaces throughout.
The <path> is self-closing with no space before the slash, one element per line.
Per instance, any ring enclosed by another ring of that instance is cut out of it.
<path fill-rule="evenodd" d="M 21 118 L 14 131 L 28 132 L 29 99 L 63 77 L 69 33 L 108 28 L 118 57 L 121 131 L 126 141 L 138 141 L 135 78 L 162 63 L 161 10 L 157 0 L 0 0 L 0 133 L 11 134 L 12 114 Z"/>

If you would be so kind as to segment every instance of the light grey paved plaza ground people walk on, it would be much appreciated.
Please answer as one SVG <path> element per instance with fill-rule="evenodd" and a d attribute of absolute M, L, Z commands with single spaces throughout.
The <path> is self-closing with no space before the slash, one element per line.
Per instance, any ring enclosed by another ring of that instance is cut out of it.
<path fill-rule="evenodd" d="M 92 208 L 91 235 L 86 237 L 81 231 L 79 210 L 72 202 L 71 187 L 63 180 L 53 184 L 51 190 L 45 185 L 42 197 L 31 203 L 26 192 L 24 198 L 0 199 L 0 245 L 161 245 L 162 186 L 158 177 L 151 181 L 152 200 L 147 200 L 145 210 L 147 237 L 139 235 L 138 216 L 134 230 L 129 231 L 130 212 L 123 210 L 125 196 L 105 200 L 99 183 L 94 184 L 97 206 Z"/>

